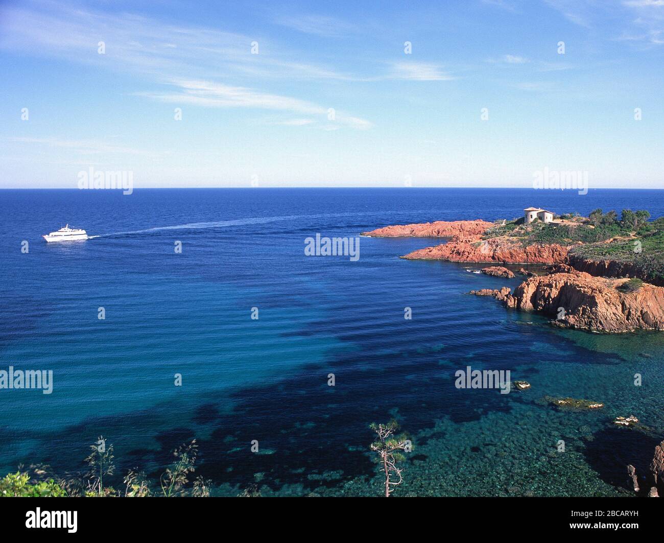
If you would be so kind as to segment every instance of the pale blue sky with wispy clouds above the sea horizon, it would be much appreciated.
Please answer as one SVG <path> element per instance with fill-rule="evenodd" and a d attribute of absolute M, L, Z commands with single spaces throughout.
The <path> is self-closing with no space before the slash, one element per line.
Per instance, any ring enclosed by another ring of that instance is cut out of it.
<path fill-rule="evenodd" d="M 5 1 L 0 58 L 1 188 L 664 187 L 664 0 Z"/>

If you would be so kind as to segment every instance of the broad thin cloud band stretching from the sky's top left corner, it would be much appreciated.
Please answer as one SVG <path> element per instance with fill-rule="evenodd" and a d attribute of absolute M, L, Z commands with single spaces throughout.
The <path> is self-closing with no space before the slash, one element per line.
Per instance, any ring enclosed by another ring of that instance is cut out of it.
<path fill-rule="evenodd" d="M 206 78 L 355 79 L 306 62 L 301 52 L 275 47 L 263 36 L 82 11 L 66 3 L 25 6 L 2 7 L 0 47 L 149 76 L 195 72 Z M 98 54 L 100 41 L 105 54 Z M 252 42 L 259 54 L 251 54 Z"/>

